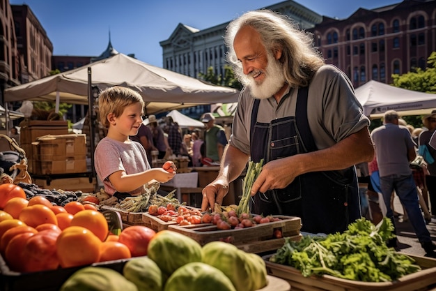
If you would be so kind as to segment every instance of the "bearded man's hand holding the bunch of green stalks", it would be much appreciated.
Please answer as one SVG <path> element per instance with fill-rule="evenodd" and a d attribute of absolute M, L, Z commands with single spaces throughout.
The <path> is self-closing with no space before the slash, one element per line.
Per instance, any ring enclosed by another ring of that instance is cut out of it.
<path fill-rule="evenodd" d="M 293 167 L 290 161 L 292 157 L 280 158 L 263 165 L 262 172 L 251 187 L 251 196 L 258 192 L 265 193 L 272 189 L 282 189 L 292 183 L 301 173 L 297 172 L 297 167 Z"/>

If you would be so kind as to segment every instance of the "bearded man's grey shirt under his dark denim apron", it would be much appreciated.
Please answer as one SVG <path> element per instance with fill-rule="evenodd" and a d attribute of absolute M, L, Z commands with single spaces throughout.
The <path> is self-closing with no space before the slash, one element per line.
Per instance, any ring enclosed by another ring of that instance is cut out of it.
<path fill-rule="evenodd" d="M 270 123 L 281 117 L 295 116 L 297 89 L 290 89 L 289 96 L 277 104 L 274 97 L 260 100 L 258 122 Z M 251 112 L 254 98 L 244 88 L 233 118 L 229 144 L 250 154 Z M 355 96 L 348 77 L 335 66 L 322 66 L 313 75 L 307 101 L 309 127 L 318 149 L 332 147 L 337 142 L 368 126 L 370 121 Z M 347 153 L 344 153 L 347 154 Z"/>

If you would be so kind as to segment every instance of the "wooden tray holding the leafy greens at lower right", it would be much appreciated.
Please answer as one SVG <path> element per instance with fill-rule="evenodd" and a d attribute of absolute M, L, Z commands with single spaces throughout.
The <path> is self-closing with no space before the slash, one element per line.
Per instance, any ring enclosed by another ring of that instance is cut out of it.
<path fill-rule="evenodd" d="M 293 267 L 269 261 L 271 255 L 263 256 L 269 275 L 283 278 L 290 283 L 292 290 L 296 291 L 423 291 L 435 290 L 436 287 L 436 260 L 410 255 L 422 270 L 408 274 L 393 282 L 361 282 L 352 281 L 334 276 L 304 277 Z"/>

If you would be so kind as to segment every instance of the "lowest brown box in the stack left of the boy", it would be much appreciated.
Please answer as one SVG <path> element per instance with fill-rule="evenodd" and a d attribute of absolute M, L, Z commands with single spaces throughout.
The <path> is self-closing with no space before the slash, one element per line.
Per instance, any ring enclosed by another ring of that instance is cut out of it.
<path fill-rule="evenodd" d="M 64 191 L 95 191 L 95 178 L 89 180 L 89 177 L 72 177 L 61 179 L 33 179 L 33 183 L 43 189 L 61 189 Z"/>

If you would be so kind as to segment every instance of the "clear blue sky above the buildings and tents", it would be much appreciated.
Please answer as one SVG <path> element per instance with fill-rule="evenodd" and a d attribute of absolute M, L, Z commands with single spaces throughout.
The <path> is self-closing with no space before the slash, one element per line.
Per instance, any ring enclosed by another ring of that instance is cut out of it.
<path fill-rule="evenodd" d="M 54 55 L 99 56 L 111 43 L 118 52 L 162 67 L 159 42 L 179 23 L 207 29 L 248 10 L 279 0 L 10 0 L 28 5 L 53 43 Z M 400 0 L 299 0 L 297 3 L 329 17 L 343 19 L 357 9 L 373 9 Z"/>

